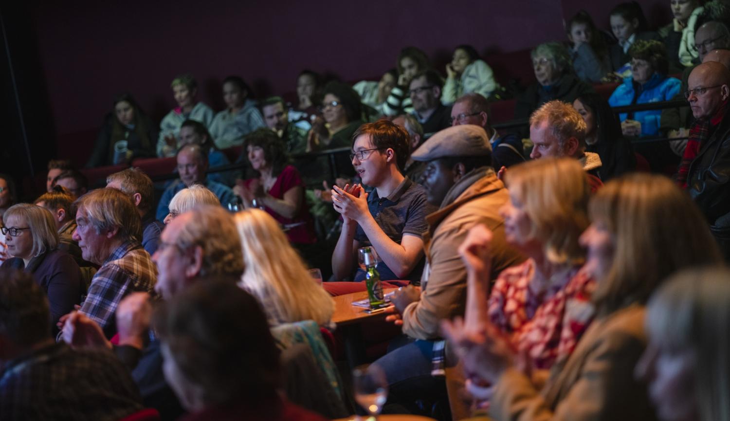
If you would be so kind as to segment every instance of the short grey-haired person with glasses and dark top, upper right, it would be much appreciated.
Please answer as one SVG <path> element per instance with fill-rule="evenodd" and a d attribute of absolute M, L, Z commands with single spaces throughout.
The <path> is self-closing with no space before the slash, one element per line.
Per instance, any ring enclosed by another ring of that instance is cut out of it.
<path fill-rule="evenodd" d="M 570 54 L 559 42 L 545 42 L 531 51 L 532 69 L 537 82 L 517 96 L 515 118 L 527 118 L 548 101 L 559 99 L 572 103 L 584 93 L 593 93 L 593 87 L 573 74 Z M 526 136 L 525 132 L 520 135 Z"/>

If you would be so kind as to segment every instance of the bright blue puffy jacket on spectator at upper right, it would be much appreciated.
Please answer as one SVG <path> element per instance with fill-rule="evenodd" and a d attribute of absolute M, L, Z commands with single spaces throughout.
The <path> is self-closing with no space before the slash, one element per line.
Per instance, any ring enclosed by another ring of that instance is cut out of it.
<path fill-rule="evenodd" d="M 623 85 L 619 85 L 611 94 L 608 103 L 611 107 L 619 107 L 621 105 L 630 105 L 634 99 L 634 89 L 640 89 L 639 97 L 634 104 L 646 104 L 648 102 L 669 101 L 680 91 L 682 82 L 675 77 L 666 77 L 655 73 L 650 77 L 648 82 L 643 86 L 634 83 L 631 77 L 623 80 Z M 626 113 L 619 115 L 621 121 L 626 120 Z M 661 109 L 650 109 L 648 111 L 634 112 L 632 120 L 641 123 L 642 136 L 656 136 L 659 133 L 659 117 L 661 117 Z"/>

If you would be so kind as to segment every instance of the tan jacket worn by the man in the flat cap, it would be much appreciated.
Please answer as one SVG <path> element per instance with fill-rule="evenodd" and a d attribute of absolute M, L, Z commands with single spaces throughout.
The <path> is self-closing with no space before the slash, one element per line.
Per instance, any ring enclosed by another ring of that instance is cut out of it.
<path fill-rule="evenodd" d="M 440 339 L 439 322 L 464 315 L 466 268 L 457 250 L 474 225 L 483 223 L 494 233 L 491 279 L 525 260 L 504 240 L 504 220 L 497 211 L 508 200 L 507 189 L 494 171 L 475 169 L 449 190 L 437 212 L 426 217 L 429 232 L 423 235 L 427 262 L 421 278 L 423 292 L 403 312 L 403 333 L 415 339 Z"/>

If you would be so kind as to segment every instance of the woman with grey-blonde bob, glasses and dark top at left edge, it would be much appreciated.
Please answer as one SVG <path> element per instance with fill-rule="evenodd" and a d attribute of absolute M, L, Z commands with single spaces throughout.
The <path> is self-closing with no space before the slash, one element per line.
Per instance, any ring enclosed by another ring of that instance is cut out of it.
<path fill-rule="evenodd" d="M 0 269 L 21 269 L 33 274 L 48 295 L 53 316 L 48 328 L 55 335 L 58 318 L 71 312 L 84 292 L 79 266 L 69 253 L 58 250 L 58 233 L 47 209 L 16 204 L 7 209 L 4 221 L 1 231 L 12 258 L 5 260 Z"/>

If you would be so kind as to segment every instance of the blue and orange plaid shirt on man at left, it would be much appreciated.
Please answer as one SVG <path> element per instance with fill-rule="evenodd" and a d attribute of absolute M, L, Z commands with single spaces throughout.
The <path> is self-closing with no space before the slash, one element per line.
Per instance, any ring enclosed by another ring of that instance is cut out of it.
<path fill-rule="evenodd" d="M 119 301 L 135 291 L 154 293 L 155 282 L 157 268 L 150 254 L 138 242 L 124 242 L 91 279 L 80 312 L 99 323 L 109 339 L 117 331 L 114 313 Z"/>

